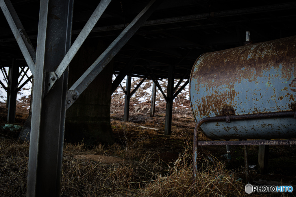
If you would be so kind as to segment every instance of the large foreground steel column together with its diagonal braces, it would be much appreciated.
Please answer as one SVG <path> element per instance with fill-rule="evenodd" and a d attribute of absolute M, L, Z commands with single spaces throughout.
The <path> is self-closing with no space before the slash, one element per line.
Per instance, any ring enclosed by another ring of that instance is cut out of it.
<path fill-rule="evenodd" d="M 9 0 L 1 1 L 1 9 L 36 82 L 33 89 L 34 107 L 32 110 L 27 196 L 59 196 L 66 109 L 75 102 L 115 54 L 141 27 L 161 1 L 150 1 L 78 81 L 67 90 L 68 65 L 109 3 L 110 0 L 102 0 L 99 3 L 70 47 L 73 0 L 41 1 L 35 53 L 11 2 Z M 60 20 L 49 17 L 49 9 L 57 7 L 55 5 L 59 6 L 51 12 L 54 12 Z M 49 50 L 55 45 L 59 45 L 59 47 Z M 65 53 L 66 51 L 67 53 Z M 58 54 L 63 53 L 64 57 L 61 59 Z M 35 57 L 38 66 L 35 66 Z M 13 68 L 16 69 L 17 67 L 14 66 Z M 46 74 L 44 75 L 44 73 Z M 55 103 L 55 105 L 52 105 L 52 103 Z"/>

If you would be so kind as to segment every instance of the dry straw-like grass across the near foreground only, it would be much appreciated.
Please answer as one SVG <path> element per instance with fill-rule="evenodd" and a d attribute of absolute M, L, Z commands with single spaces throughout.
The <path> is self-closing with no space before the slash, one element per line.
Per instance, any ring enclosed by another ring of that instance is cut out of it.
<path fill-rule="evenodd" d="M 192 181 L 191 145 L 174 163 L 153 161 L 140 151 L 149 141 L 127 141 L 125 145 L 86 148 L 65 144 L 61 196 L 244 196 L 244 185 L 225 170 L 200 158 L 206 168 Z M 28 170 L 28 143 L 0 139 L 0 196 L 25 196 Z M 132 154 L 137 151 L 141 154 Z M 103 163 L 78 154 L 112 154 L 125 162 Z M 133 158 L 138 158 L 135 161 Z"/>

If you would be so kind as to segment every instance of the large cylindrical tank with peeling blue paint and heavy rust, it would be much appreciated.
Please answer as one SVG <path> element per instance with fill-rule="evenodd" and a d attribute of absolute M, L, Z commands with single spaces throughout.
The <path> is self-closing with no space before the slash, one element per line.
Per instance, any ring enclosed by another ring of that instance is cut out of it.
<path fill-rule="evenodd" d="M 296 110 L 295 64 L 296 36 L 201 55 L 189 83 L 195 121 Z M 215 140 L 296 138 L 293 117 L 216 121 L 200 128 Z"/>

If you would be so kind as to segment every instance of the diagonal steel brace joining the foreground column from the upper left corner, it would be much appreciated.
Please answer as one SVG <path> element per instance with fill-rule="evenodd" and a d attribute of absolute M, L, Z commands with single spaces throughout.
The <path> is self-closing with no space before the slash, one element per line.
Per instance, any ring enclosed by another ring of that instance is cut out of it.
<path fill-rule="evenodd" d="M 32 75 L 34 76 L 36 51 L 10 0 L 0 0 L 0 6 L 9 24 L 9 27 L 12 30 L 15 39 L 17 40 L 17 44 L 22 51 L 25 61 L 27 62 Z"/>

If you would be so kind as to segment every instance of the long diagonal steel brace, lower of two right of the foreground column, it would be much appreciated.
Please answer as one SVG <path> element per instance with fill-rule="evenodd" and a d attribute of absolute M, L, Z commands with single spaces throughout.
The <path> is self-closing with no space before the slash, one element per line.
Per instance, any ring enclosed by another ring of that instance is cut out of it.
<path fill-rule="evenodd" d="M 147 18 L 159 6 L 161 0 L 152 0 L 149 4 L 133 19 L 133 21 L 120 33 L 111 45 L 102 53 L 101 56 L 86 70 L 86 72 L 70 87 L 67 95 L 67 109 L 75 102 L 86 87 L 98 76 L 104 67 L 127 43 L 134 33 L 141 27 Z"/>

